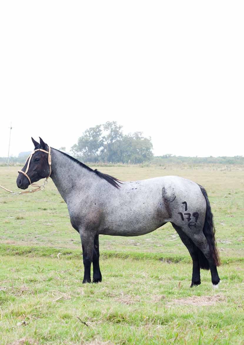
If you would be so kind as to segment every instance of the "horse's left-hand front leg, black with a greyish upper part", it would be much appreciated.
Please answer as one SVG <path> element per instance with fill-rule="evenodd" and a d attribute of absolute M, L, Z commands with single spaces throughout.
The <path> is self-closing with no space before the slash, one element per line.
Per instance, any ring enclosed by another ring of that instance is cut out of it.
<path fill-rule="evenodd" d="M 80 238 L 82 244 L 82 255 L 84 264 L 84 283 L 91 283 L 91 263 L 93 257 L 93 244 L 95 234 L 92 232 L 82 229 L 80 230 Z"/>

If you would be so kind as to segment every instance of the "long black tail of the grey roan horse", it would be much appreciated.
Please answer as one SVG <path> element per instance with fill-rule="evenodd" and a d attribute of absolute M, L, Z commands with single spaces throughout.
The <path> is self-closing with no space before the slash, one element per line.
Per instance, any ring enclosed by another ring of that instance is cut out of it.
<path fill-rule="evenodd" d="M 210 249 L 210 252 L 212 253 L 212 257 L 213 257 L 215 265 L 220 266 L 221 264 L 220 253 L 217 249 L 217 244 L 216 244 L 215 236 L 214 236 L 215 227 L 213 223 L 213 214 L 211 212 L 210 202 L 207 197 L 206 190 L 200 185 L 199 187 L 206 200 L 206 215 L 205 215 L 205 221 L 204 221 L 204 226 L 203 226 L 203 234 L 207 239 L 207 244 L 209 245 L 209 249 Z M 198 253 L 198 257 L 199 257 L 200 267 L 203 269 L 209 269 L 209 262 L 207 261 L 206 257 L 203 255 L 203 253 L 200 250 Z"/>

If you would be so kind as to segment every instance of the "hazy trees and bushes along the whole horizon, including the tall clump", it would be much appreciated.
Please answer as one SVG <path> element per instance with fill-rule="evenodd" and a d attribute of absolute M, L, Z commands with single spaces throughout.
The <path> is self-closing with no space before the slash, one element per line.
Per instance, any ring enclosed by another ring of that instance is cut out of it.
<path fill-rule="evenodd" d="M 151 137 L 145 138 L 142 132 L 123 134 L 121 125 L 116 121 L 86 129 L 77 144 L 71 147 L 75 158 L 87 163 L 140 164 L 150 161 L 154 165 L 166 164 L 240 164 L 243 156 L 235 157 L 181 157 L 166 154 L 153 156 Z M 65 147 L 60 148 L 66 151 Z M 20 152 L 18 157 L 10 157 L 10 164 L 22 164 L 30 152 Z M 6 165 L 7 158 L 0 157 L 0 165 Z"/>

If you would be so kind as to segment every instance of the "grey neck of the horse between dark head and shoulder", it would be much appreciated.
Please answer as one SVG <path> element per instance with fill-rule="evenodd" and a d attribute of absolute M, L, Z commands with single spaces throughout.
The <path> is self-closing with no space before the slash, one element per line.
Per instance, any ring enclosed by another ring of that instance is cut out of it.
<path fill-rule="evenodd" d="M 51 178 L 65 201 L 72 193 L 84 192 L 89 188 L 92 171 L 80 166 L 58 150 L 51 149 L 51 157 Z"/>

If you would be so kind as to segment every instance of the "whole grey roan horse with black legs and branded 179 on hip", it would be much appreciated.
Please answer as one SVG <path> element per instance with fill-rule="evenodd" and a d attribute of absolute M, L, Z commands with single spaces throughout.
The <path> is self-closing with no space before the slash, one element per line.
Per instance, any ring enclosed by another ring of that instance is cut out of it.
<path fill-rule="evenodd" d="M 53 180 L 67 204 L 71 225 L 80 234 L 83 283 L 91 283 L 91 263 L 92 282 L 102 281 L 99 235 L 139 236 L 170 222 L 192 258 L 191 287 L 201 284 L 200 268 L 210 269 L 213 286 L 218 286 L 220 256 L 210 202 L 202 186 L 178 176 L 121 181 L 48 146 L 41 138 L 40 143 L 33 138 L 32 142 L 34 151 L 19 171 L 17 186 L 27 189 L 41 178 Z"/>

